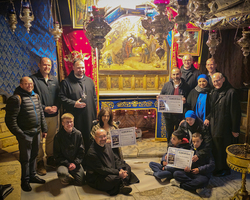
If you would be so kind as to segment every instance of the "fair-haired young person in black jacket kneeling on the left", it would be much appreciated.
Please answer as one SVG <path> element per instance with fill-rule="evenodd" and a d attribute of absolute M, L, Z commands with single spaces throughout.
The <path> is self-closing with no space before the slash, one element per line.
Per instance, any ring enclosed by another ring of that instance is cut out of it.
<path fill-rule="evenodd" d="M 64 185 L 82 185 L 85 174 L 82 168 L 84 146 L 82 134 L 74 128 L 74 116 L 65 113 L 61 117 L 62 128 L 54 138 L 54 157 L 57 175 Z"/>

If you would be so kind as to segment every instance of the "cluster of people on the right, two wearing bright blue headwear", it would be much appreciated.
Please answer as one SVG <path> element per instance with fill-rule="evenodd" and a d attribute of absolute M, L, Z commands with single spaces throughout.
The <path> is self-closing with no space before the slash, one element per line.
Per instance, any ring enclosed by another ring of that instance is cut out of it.
<path fill-rule="evenodd" d="M 164 113 L 168 147 L 194 150 L 191 169 L 151 162 L 145 174 L 186 190 L 204 188 L 211 174 L 230 174 L 226 162 L 226 147 L 236 143 L 240 132 L 241 108 L 235 89 L 216 69 L 213 58 L 206 62 L 208 74 L 192 65 L 192 56 L 183 57 L 183 66 L 173 68 L 171 80 L 162 88 L 161 95 L 182 95 L 184 114 Z M 184 120 L 183 120 L 184 119 Z"/>

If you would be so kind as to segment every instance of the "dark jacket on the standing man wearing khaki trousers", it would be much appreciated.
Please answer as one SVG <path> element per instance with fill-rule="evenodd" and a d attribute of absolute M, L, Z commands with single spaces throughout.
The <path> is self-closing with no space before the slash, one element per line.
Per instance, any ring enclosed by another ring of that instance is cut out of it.
<path fill-rule="evenodd" d="M 57 106 L 59 109 L 59 83 L 56 77 L 49 75 L 49 79 L 46 83 L 44 77 L 42 76 L 40 70 L 34 74 L 31 75 L 30 78 L 32 78 L 34 82 L 34 92 L 39 94 L 43 110 L 46 106 Z M 44 112 L 45 117 L 54 117 L 57 116 L 58 112 L 55 114 L 48 114 Z"/>

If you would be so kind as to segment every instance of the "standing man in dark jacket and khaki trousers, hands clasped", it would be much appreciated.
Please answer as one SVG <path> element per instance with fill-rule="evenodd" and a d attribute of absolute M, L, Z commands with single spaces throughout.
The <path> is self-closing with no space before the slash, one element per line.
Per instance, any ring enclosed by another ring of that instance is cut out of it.
<path fill-rule="evenodd" d="M 30 76 L 30 78 L 32 78 L 34 81 L 34 92 L 40 96 L 45 120 L 48 126 L 48 132 L 45 141 L 47 165 L 55 167 L 55 161 L 53 157 L 53 139 L 58 126 L 59 83 L 57 78 L 50 74 L 52 65 L 49 58 L 41 58 L 38 66 L 39 71 L 36 74 Z M 46 169 L 43 162 L 43 157 L 45 155 L 43 146 L 44 139 L 41 138 L 38 156 L 36 159 L 37 173 L 41 176 L 46 174 Z"/>

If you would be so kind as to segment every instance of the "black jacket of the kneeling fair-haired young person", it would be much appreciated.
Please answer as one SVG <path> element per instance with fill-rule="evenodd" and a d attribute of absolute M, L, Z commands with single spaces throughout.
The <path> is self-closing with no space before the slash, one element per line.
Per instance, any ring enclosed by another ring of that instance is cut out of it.
<path fill-rule="evenodd" d="M 80 165 L 83 161 L 85 149 L 82 134 L 73 128 L 67 133 L 62 127 L 54 137 L 54 158 L 58 166 L 69 167 L 70 163 Z"/>

